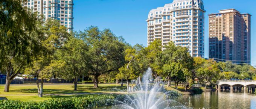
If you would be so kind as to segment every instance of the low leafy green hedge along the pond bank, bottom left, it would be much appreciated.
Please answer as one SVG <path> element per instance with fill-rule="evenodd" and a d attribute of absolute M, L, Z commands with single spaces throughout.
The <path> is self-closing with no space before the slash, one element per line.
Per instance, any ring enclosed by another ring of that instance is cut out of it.
<path fill-rule="evenodd" d="M 114 105 L 115 96 L 100 95 L 88 97 L 55 98 L 43 102 L 1 100 L 0 109 L 91 109 Z"/>

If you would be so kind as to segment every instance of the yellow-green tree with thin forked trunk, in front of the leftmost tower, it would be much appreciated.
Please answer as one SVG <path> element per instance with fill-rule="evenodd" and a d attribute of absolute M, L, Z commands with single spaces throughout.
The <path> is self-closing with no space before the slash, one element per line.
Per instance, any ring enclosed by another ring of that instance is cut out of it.
<path fill-rule="evenodd" d="M 51 61 L 54 60 L 53 55 L 58 49 L 62 49 L 70 35 L 64 26 L 60 26 L 59 21 L 52 19 L 48 19 L 44 24 L 38 24 L 38 29 L 44 33 L 40 40 L 43 48 L 38 55 L 39 58 L 33 58 L 33 62 L 27 66 L 25 73 L 36 77 L 38 96 L 43 97 L 43 79 L 50 79 L 56 75 L 55 72 L 50 72 L 53 70 L 49 71 Z M 41 83 L 38 81 L 39 78 Z"/>

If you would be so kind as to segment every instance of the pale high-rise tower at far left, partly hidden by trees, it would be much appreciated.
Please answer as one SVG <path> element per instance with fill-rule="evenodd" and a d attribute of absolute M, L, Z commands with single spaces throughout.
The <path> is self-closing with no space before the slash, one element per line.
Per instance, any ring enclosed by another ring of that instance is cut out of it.
<path fill-rule="evenodd" d="M 27 0 L 24 7 L 43 15 L 44 21 L 48 18 L 60 20 L 61 25 L 70 32 L 73 30 L 73 0 Z"/>

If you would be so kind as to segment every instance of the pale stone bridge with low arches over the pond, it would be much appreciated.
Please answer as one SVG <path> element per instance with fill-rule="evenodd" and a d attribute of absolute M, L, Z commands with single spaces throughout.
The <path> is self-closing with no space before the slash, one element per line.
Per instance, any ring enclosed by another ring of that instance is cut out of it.
<path fill-rule="evenodd" d="M 242 91 L 242 88 L 245 92 L 253 93 L 256 88 L 256 80 L 219 80 L 217 82 L 218 91 L 221 89 L 230 90 L 230 92 Z"/>

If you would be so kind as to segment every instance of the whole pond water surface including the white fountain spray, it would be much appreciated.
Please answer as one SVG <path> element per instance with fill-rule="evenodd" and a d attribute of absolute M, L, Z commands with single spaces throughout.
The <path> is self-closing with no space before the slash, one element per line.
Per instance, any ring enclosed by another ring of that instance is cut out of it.
<path fill-rule="evenodd" d="M 98 109 L 256 109 L 254 94 L 230 92 L 204 92 L 196 95 L 175 95 L 166 91 L 163 82 L 150 84 L 152 71 L 149 68 L 142 80 L 133 80 L 131 94 L 115 106 Z"/>

